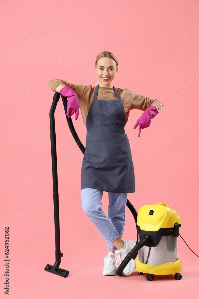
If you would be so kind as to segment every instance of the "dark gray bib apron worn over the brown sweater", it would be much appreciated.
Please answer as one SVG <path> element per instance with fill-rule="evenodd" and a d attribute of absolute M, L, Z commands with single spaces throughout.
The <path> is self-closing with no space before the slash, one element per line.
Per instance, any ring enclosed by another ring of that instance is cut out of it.
<path fill-rule="evenodd" d="M 129 139 L 124 131 L 126 116 L 118 100 L 98 100 L 99 84 L 86 119 L 86 146 L 81 167 L 81 189 L 135 192 L 135 176 Z"/>

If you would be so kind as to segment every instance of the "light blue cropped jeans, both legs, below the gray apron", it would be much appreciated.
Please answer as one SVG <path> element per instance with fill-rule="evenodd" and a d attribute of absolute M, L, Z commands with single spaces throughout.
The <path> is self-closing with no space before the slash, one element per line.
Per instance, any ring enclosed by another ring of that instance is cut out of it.
<path fill-rule="evenodd" d="M 108 243 L 108 249 L 116 250 L 112 241 L 122 237 L 125 225 L 125 206 L 127 193 L 109 192 L 108 216 L 102 210 L 102 195 L 104 191 L 84 188 L 81 190 L 81 202 L 84 213 L 98 229 Z"/>

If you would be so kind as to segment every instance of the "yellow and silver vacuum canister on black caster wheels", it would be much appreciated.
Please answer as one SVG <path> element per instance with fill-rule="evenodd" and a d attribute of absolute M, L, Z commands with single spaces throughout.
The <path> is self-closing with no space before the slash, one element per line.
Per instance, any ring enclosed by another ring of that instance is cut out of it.
<path fill-rule="evenodd" d="M 181 279 L 182 262 L 177 255 L 177 237 L 181 219 L 166 203 L 145 205 L 140 208 L 137 218 L 138 242 L 145 236 L 151 238 L 149 245 L 143 246 L 135 263 L 135 269 L 147 273 L 147 280 L 155 275 L 175 274 Z"/>

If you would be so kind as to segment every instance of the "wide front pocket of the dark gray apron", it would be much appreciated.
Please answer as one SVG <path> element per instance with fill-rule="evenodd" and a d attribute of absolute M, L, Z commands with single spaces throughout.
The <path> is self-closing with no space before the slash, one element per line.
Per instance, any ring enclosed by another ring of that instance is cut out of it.
<path fill-rule="evenodd" d="M 124 162 L 127 159 L 126 141 L 89 142 L 90 160 L 101 163 Z"/>

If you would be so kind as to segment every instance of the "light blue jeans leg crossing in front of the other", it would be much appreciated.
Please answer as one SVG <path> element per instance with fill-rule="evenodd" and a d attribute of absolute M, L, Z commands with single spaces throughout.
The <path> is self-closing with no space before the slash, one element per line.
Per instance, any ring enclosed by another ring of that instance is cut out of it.
<path fill-rule="evenodd" d="M 102 210 L 103 191 L 93 188 L 84 188 L 81 190 L 81 201 L 84 213 L 98 229 L 105 241 L 112 242 L 118 237 L 118 231 L 109 217 Z"/>

